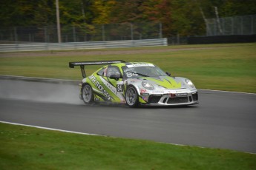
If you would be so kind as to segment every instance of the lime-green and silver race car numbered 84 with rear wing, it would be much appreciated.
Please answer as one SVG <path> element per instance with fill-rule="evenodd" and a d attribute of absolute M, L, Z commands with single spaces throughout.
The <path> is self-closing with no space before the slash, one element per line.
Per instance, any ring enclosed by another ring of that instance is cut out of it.
<path fill-rule="evenodd" d="M 87 77 L 85 66 L 100 64 L 105 66 Z M 172 77 L 155 64 L 122 60 L 69 63 L 70 68 L 76 66 L 83 76 L 79 96 L 85 104 L 110 102 L 137 107 L 199 103 L 197 89 L 188 78 Z"/>

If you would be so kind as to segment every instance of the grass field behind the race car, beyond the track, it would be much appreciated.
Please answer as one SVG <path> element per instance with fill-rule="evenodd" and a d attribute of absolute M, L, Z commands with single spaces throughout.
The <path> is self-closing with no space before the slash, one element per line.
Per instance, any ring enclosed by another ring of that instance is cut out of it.
<path fill-rule="evenodd" d="M 39 57 L 36 56 L 39 52 L 29 52 L 30 56 L 1 57 L 0 74 L 80 80 L 81 74 L 79 68 L 70 69 L 68 67 L 69 61 L 122 59 L 125 61 L 152 62 L 163 70 L 171 72 L 174 76 L 190 78 L 197 88 L 200 89 L 220 89 L 255 93 L 255 49 L 256 44 L 252 43 L 80 50 L 82 52 L 101 51 L 103 54 L 86 55 L 85 53 L 84 56 L 71 54 L 70 56 L 62 57 L 53 56 L 51 52 L 48 52 L 47 57 Z M 127 50 L 144 50 L 144 52 L 129 54 Z M 145 52 L 146 50 L 149 51 Z M 104 55 L 105 51 L 119 51 L 119 53 Z M 126 52 L 123 54 L 123 51 Z M 34 56 L 31 56 L 31 54 Z M 4 55 L 4 53 L 0 53 L 0 55 Z M 86 71 L 88 74 L 91 74 L 99 67 L 87 67 Z"/>

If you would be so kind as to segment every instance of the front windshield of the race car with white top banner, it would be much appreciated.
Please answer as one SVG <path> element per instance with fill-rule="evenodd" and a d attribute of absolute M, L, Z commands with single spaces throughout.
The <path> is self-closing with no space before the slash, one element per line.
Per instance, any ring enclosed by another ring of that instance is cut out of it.
<path fill-rule="evenodd" d="M 126 65 L 122 67 L 122 71 L 124 72 L 125 78 L 157 77 L 166 75 L 162 69 L 153 64 L 146 64 L 145 66 Z"/>

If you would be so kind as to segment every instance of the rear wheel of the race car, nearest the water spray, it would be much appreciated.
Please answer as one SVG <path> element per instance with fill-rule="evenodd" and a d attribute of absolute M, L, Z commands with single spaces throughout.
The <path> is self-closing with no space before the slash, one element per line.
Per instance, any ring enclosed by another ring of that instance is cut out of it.
<path fill-rule="evenodd" d="M 81 89 L 81 98 L 85 104 L 94 103 L 93 89 L 90 84 L 84 84 Z"/>

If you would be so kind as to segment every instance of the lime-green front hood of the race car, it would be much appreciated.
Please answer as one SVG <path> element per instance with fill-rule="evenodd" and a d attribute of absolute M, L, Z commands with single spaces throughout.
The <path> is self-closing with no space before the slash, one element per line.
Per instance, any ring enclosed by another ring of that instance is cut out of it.
<path fill-rule="evenodd" d="M 177 82 L 174 78 L 169 76 L 159 76 L 159 77 L 142 77 L 140 80 L 150 81 L 152 84 L 156 84 L 158 86 L 163 86 L 166 89 L 179 89 L 181 88 L 181 82 Z"/>

